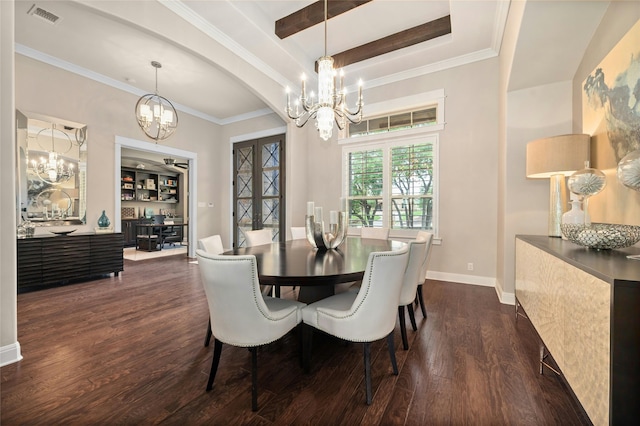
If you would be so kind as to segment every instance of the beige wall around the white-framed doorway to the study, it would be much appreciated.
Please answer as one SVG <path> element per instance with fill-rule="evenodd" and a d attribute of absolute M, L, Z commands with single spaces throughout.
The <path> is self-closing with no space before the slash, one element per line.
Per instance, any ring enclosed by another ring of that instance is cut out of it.
<path fill-rule="evenodd" d="M 16 55 L 15 88 L 17 109 L 87 124 L 87 224 L 79 229 L 93 230 L 102 210 L 113 221 L 119 196 L 114 184 L 115 137 L 151 142 L 133 115 L 137 97 L 21 55 Z M 198 199 L 208 200 L 208 194 L 215 194 L 217 187 L 216 179 L 211 177 L 217 167 L 211 167 L 210 163 L 218 156 L 221 128 L 179 114 L 178 130 L 159 145 L 198 153 Z M 199 209 L 199 235 L 213 231 L 209 213 L 215 211 L 216 208 Z M 47 231 L 36 229 L 36 233 Z"/>

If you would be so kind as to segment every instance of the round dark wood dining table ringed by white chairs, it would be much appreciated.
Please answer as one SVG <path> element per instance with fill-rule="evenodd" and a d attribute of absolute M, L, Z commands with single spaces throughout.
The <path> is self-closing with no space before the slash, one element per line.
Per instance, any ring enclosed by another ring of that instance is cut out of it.
<path fill-rule="evenodd" d="M 226 251 L 227 255 L 252 254 L 256 257 L 260 284 L 299 286 L 298 300 L 315 302 L 334 294 L 340 283 L 360 281 L 369 254 L 400 250 L 405 243 L 347 237 L 333 250 L 318 250 L 307 240 L 290 240 Z"/>

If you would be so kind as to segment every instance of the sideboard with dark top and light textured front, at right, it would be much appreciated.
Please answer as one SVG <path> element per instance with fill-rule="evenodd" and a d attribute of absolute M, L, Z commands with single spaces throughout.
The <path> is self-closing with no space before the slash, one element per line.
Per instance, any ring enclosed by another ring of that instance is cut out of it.
<path fill-rule="evenodd" d="M 640 254 L 516 237 L 522 308 L 595 425 L 640 418 Z"/>

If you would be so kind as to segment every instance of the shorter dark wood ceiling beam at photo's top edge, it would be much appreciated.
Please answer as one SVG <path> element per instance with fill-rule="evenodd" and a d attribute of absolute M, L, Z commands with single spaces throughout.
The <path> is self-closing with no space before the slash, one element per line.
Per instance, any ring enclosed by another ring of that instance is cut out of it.
<path fill-rule="evenodd" d="M 328 0 L 327 19 L 348 12 L 371 0 Z M 281 39 L 324 21 L 324 1 L 320 0 L 276 21 L 276 35 Z"/>

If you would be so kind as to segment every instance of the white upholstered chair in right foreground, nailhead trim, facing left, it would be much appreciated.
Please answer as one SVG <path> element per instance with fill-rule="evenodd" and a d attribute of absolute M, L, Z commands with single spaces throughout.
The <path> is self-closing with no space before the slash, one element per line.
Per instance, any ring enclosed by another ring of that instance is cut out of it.
<path fill-rule="evenodd" d="M 304 321 L 303 366 L 310 370 L 313 328 L 350 342 L 362 342 L 366 402 L 371 404 L 371 342 L 387 338 L 393 374 L 398 374 L 393 330 L 408 247 L 369 255 L 358 292 L 347 291 L 319 300 L 302 309 Z"/>

